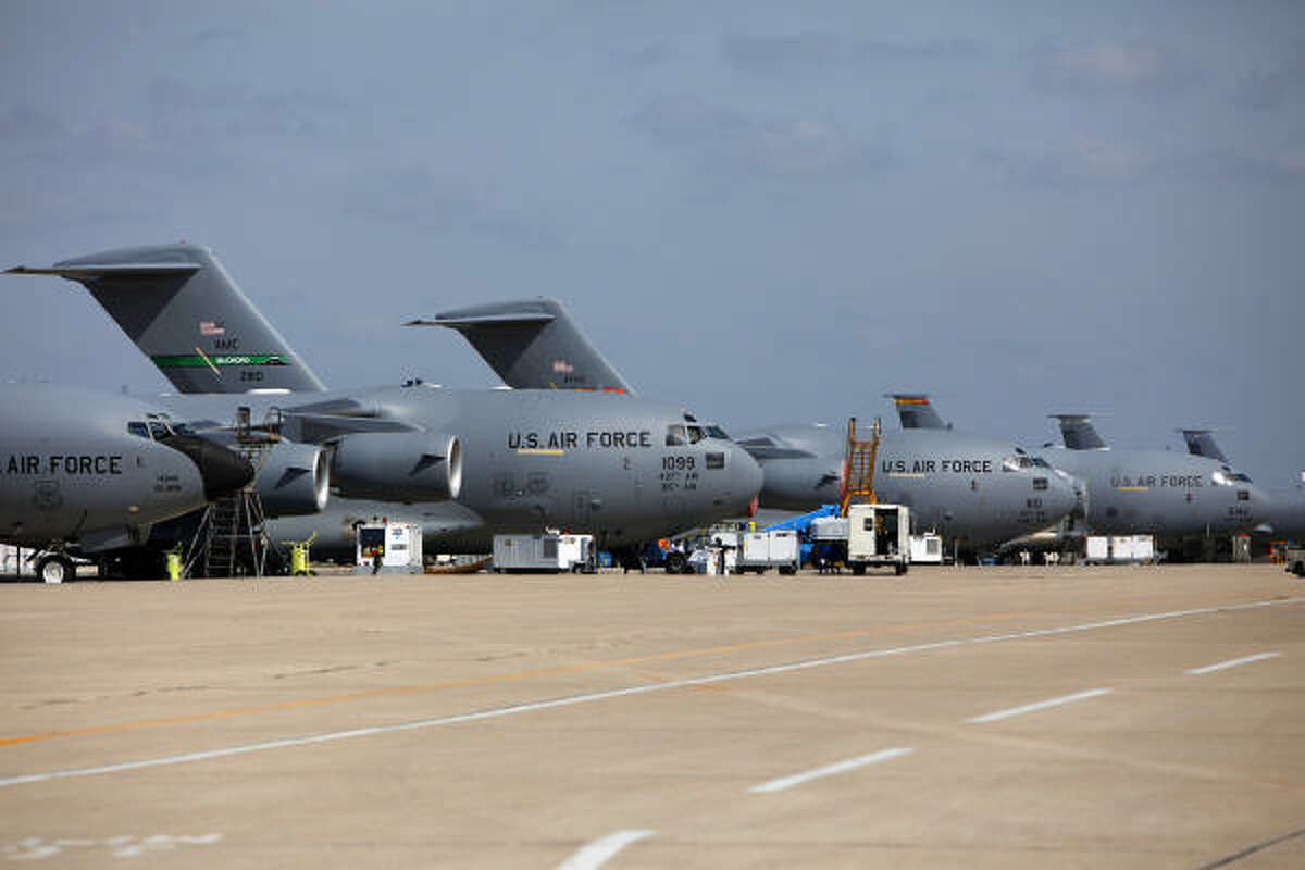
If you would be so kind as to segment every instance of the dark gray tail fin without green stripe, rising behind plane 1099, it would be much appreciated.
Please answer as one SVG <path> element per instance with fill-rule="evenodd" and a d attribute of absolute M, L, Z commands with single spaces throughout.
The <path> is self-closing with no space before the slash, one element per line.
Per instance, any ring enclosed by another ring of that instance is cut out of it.
<path fill-rule="evenodd" d="M 555 299 L 461 308 L 405 326 L 445 326 L 462 333 L 513 389 L 634 393 Z"/>

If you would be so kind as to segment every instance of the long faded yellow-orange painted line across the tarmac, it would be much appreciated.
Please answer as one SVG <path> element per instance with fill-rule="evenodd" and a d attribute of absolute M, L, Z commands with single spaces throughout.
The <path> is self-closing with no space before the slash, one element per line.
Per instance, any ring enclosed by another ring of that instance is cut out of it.
<path fill-rule="evenodd" d="M 679 659 L 696 659 L 701 656 L 715 656 L 729 652 L 745 652 L 748 650 L 761 650 L 766 647 L 783 647 L 793 646 L 799 643 L 814 643 L 818 640 L 844 640 L 848 638 L 865 638 L 868 635 L 881 635 L 885 630 L 895 631 L 917 631 L 921 629 L 946 629 L 955 627 L 960 625 L 974 625 L 976 622 L 993 622 L 1004 620 L 1015 620 L 1021 617 L 1034 616 L 1032 613 L 997 613 L 993 616 L 983 618 L 966 617 L 960 620 L 949 620 L 945 622 L 921 622 L 919 625 L 904 625 L 904 626 L 880 626 L 876 629 L 860 629 L 856 631 L 833 631 L 829 634 L 809 634 L 797 638 L 775 638 L 773 640 L 749 640 L 748 643 L 729 643 L 716 647 L 702 647 L 698 650 L 671 650 L 668 652 L 655 652 L 647 656 L 633 656 L 629 659 L 612 659 L 607 661 L 585 661 L 574 665 L 559 665 L 556 668 L 539 668 L 535 670 L 519 670 L 515 673 L 496 674 L 492 677 L 474 677 L 467 680 L 449 680 L 445 682 L 428 682 L 419 683 L 415 686 L 390 686 L 388 689 L 371 689 L 367 691 L 355 691 L 342 695 L 326 695 L 322 698 L 299 698 L 295 700 L 282 700 L 271 704 L 260 704 L 256 707 L 238 707 L 235 710 L 218 710 L 207 713 L 193 713 L 189 716 L 168 716 L 164 719 L 144 719 L 132 723 L 117 723 L 114 725 L 90 725 L 87 728 L 68 728 L 63 730 L 47 730 L 35 734 L 18 734 L 14 737 L 0 737 L 0 746 L 18 746 L 21 743 L 35 743 L 46 740 L 57 740 L 61 737 L 86 737 L 90 734 L 110 734 L 115 732 L 128 732 L 128 730 L 142 730 L 149 728 L 167 728 L 170 725 L 188 725 L 201 721 L 211 721 L 215 719 L 230 719 L 232 716 L 247 716 L 252 713 L 270 713 L 281 712 L 287 710 L 304 710 L 307 707 L 325 707 L 329 704 L 339 704 L 355 700 L 368 700 L 372 698 L 389 698 L 395 695 L 415 695 L 422 693 L 441 691 L 445 689 L 470 689 L 475 686 L 489 686 L 493 683 L 506 683 L 506 682 L 521 682 L 525 680 L 535 680 L 539 677 L 559 677 L 576 673 L 586 673 L 591 670 L 603 670 L 608 668 L 629 668 L 634 665 L 647 664 L 651 661 L 675 661 Z"/>

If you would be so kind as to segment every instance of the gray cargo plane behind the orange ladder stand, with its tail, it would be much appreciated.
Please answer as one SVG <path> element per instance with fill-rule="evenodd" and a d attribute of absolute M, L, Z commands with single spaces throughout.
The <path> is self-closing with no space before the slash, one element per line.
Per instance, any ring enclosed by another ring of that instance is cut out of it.
<path fill-rule="evenodd" d="M 410 325 L 462 333 L 515 389 L 632 391 L 556 300 L 479 305 Z M 842 428 L 779 425 L 736 442 L 765 472 L 761 506 L 805 511 L 839 500 L 846 457 Z M 949 545 L 966 550 L 1045 528 L 1077 503 L 1067 480 L 1051 470 L 1021 467 L 1011 447 L 949 432 L 885 433 L 876 488 L 886 501 L 911 505 L 917 528 L 934 528 Z"/>

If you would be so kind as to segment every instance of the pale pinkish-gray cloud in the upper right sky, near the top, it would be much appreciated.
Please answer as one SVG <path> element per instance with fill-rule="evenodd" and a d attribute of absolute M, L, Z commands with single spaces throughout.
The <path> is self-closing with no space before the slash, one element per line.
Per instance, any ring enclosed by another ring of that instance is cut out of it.
<path fill-rule="evenodd" d="M 1176 52 L 1148 42 L 1047 44 L 1034 52 L 1030 83 L 1058 97 L 1156 97 L 1182 91 L 1199 72 Z"/>

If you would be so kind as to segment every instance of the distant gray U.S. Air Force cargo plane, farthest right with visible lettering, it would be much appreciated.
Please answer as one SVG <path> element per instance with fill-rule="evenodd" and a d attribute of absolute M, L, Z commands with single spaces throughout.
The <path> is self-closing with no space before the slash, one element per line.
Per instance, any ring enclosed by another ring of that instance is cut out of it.
<path fill-rule="evenodd" d="M 923 394 L 914 398 L 928 402 Z M 907 416 L 900 408 L 903 427 L 938 425 L 932 423 L 937 413 Z M 1171 450 L 1116 450 L 1088 415 L 1052 416 L 1060 421 L 1065 446 L 1021 450 L 1019 462 L 1051 466 L 1083 481 L 1083 522 L 1096 533 L 1150 533 L 1172 547 L 1185 537 L 1250 531 L 1266 514 L 1259 489 L 1221 463 Z"/>

